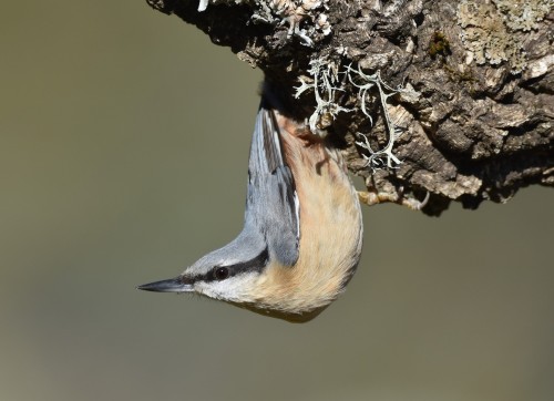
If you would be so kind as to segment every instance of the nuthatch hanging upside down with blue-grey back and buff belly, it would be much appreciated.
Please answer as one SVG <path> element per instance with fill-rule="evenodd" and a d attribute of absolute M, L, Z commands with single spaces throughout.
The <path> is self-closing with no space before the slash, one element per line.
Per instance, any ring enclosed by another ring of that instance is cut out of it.
<path fill-rule="evenodd" d="M 266 84 L 240 234 L 178 277 L 138 289 L 196 292 L 294 322 L 343 291 L 361 254 L 357 192 L 339 151 L 279 110 Z"/>

